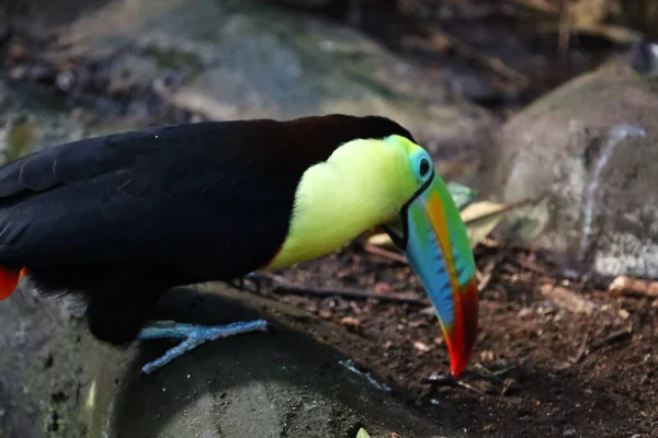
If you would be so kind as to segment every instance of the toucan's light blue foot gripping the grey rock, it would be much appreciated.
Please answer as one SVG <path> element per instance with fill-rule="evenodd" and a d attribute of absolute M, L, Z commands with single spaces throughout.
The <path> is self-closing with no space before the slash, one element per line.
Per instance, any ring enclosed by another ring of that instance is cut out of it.
<path fill-rule="evenodd" d="M 156 321 L 144 327 L 137 338 L 145 341 L 175 337 L 184 341 L 167 350 L 158 359 L 146 364 L 141 368 L 141 372 L 149 374 L 207 341 L 215 341 L 220 337 L 229 337 L 242 333 L 264 332 L 266 330 L 268 323 L 264 320 L 235 322 L 228 325 L 215 326 L 185 324 L 173 321 Z"/>

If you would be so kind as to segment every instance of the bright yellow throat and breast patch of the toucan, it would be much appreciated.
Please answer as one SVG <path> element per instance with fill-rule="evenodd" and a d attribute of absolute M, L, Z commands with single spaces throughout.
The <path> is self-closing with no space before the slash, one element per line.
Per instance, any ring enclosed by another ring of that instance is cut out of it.
<path fill-rule="evenodd" d="M 395 181 L 395 169 L 381 153 L 373 140 L 359 140 L 309 168 L 297 186 L 287 238 L 265 268 L 329 254 L 393 218 L 396 199 L 387 181 Z"/>

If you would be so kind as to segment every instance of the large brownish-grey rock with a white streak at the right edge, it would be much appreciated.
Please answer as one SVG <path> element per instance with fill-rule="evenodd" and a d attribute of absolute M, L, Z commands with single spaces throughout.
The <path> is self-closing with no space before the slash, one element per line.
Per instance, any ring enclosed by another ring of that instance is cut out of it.
<path fill-rule="evenodd" d="M 602 275 L 658 278 L 658 84 L 614 61 L 577 78 L 499 132 L 483 187 L 504 203 L 506 237 Z"/>

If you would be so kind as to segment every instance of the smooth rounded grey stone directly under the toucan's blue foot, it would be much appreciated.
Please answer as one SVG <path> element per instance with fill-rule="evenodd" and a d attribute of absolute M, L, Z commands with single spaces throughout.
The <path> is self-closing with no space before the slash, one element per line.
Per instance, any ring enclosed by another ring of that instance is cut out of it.
<path fill-rule="evenodd" d="M 173 291 L 161 314 L 205 323 L 261 316 L 275 333 L 209 343 L 148 377 L 137 372 L 163 350 L 157 343 L 118 369 L 99 369 L 121 379 L 102 436 L 325 438 L 351 436 L 360 425 L 373 438 L 452 434 L 341 366 L 345 357 L 306 334 L 331 328 L 286 306 L 211 286 L 196 297 Z M 106 406 L 98 411 L 107 416 Z"/>

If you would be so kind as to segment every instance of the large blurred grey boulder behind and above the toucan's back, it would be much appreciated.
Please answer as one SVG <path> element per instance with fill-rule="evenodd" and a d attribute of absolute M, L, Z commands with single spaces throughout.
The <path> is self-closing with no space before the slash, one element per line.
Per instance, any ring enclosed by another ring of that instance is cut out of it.
<path fill-rule="evenodd" d="M 268 2 L 116 0 L 60 34 L 67 45 L 60 56 L 111 53 L 112 74 L 150 78 L 170 102 L 211 119 L 381 114 L 433 151 L 494 123 L 488 112 L 454 99 L 445 79 L 423 74 L 364 35 Z M 185 79 L 164 85 L 172 71 Z"/>

